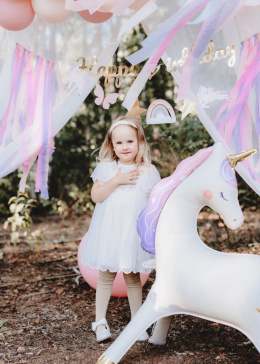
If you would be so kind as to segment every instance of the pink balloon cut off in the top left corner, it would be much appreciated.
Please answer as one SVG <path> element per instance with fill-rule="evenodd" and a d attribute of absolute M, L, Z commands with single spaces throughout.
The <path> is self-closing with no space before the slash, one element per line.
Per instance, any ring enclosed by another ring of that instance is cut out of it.
<path fill-rule="evenodd" d="M 7 30 L 23 30 L 33 21 L 35 13 L 30 0 L 1 0 L 0 26 Z"/>

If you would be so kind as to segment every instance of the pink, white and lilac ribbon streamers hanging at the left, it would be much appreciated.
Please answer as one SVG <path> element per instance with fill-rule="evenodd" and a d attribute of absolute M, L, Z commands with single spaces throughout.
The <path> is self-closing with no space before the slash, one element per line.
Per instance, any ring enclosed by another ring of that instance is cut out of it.
<path fill-rule="evenodd" d="M 16 44 L 11 57 L 10 93 L 6 99 L 0 122 L 0 149 L 20 138 L 23 175 L 20 190 L 24 191 L 29 170 L 38 156 L 36 191 L 48 198 L 47 178 L 50 156 L 54 150 L 52 110 L 55 102 L 55 79 L 60 80 L 58 67 L 52 61 L 37 56 Z M 28 153 L 24 133 L 34 128 L 30 143 L 35 145 L 33 155 Z"/>

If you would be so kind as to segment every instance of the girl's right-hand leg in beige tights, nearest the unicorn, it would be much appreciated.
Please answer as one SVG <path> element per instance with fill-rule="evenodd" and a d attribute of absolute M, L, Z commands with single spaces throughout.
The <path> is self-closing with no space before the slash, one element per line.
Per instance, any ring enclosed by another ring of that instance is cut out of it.
<path fill-rule="evenodd" d="M 140 273 L 124 273 L 124 279 L 127 287 L 131 318 L 133 318 L 142 305 L 142 284 L 140 280 Z"/>

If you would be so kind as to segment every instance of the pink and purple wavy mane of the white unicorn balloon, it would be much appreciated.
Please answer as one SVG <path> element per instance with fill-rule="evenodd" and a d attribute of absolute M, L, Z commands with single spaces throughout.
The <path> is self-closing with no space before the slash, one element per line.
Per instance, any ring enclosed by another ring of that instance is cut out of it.
<path fill-rule="evenodd" d="M 172 192 L 197 169 L 211 154 L 213 147 L 200 149 L 196 154 L 184 159 L 175 172 L 157 182 L 150 193 L 148 203 L 137 220 L 137 231 L 141 238 L 141 247 L 150 254 L 155 254 L 155 232 L 161 211 Z"/>

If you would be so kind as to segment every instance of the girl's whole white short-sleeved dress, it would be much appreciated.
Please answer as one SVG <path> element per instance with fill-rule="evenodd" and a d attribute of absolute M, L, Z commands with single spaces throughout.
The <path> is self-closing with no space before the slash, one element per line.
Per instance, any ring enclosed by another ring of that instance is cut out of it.
<path fill-rule="evenodd" d="M 125 173 L 136 166 L 120 162 L 100 162 L 91 177 L 102 185 L 113 178 L 118 168 Z M 160 179 L 155 166 L 139 167 L 135 185 L 120 185 L 101 203 L 97 203 L 87 234 L 83 238 L 83 265 L 102 271 L 150 273 L 142 263 L 154 258 L 141 248 L 136 223 L 146 206 L 153 185 Z"/>

